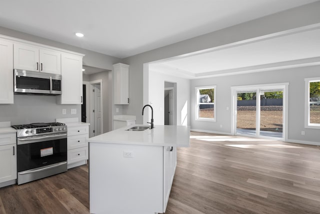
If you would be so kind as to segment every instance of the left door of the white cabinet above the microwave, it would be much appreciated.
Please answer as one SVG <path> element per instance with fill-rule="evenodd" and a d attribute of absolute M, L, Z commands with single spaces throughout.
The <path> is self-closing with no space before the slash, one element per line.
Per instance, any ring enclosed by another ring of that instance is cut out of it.
<path fill-rule="evenodd" d="M 13 45 L 13 68 L 39 71 L 39 49 L 22 44 Z"/>

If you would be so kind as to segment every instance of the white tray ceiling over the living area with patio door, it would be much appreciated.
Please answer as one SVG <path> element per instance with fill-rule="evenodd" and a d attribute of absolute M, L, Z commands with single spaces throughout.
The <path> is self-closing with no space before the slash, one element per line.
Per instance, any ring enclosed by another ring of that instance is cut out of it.
<path fill-rule="evenodd" d="M 268 39 L 229 44 L 149 65 L 151 71 L 189 79 L 320 64 L 320 25 Z"/>

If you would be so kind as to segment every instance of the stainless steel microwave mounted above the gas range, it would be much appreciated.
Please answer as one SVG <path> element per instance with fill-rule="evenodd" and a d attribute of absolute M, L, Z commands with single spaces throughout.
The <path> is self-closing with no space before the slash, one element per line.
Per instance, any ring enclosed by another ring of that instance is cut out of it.
<path fill-rule="evenodd" d="M 61 75 L 14 69 L 14 93 L 61 94 Z"/>

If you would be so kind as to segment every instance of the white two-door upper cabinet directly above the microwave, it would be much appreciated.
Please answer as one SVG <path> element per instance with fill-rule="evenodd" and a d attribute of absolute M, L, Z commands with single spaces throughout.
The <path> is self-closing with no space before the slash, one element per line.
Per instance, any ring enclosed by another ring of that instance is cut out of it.
<path fill-rule="evenodd" d="M 61 74 L 61 53 L 36 46 L 13 45 L 14 69 Z"/>

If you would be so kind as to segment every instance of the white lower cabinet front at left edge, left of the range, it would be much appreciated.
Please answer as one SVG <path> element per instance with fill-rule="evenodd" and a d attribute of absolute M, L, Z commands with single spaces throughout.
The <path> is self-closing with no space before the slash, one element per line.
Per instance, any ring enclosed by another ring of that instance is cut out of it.
<path fill-rule="evenodd" d="M 0 134 L 0 187 L 15 183 L 16 134 Z"/>

